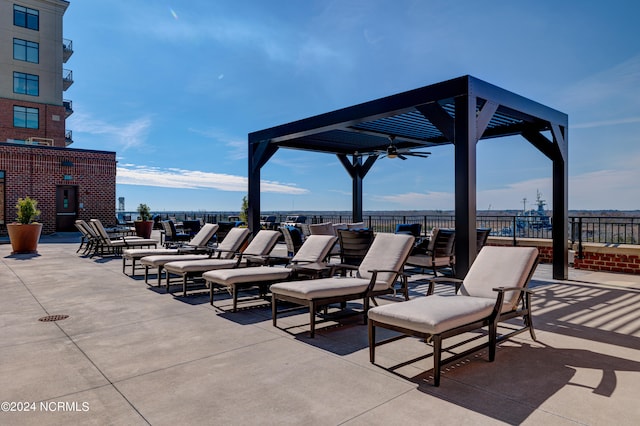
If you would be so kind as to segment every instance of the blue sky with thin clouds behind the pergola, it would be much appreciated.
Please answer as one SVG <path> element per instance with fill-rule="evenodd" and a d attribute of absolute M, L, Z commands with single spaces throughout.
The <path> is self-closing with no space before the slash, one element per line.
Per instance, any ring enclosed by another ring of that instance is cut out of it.
<path fill-rule="evenodd" d="M 236 211 L 247 134 L 470 74 L 569 115 L 569 208 L 640 209 L 635 1 L 71 1 L 73 148 L 115 151 L 127 210 Z M 378 160 L 365 210 L 452 210 L 453 147 Z M 478 144 L 478 209 L 551 205 L 551 162 Z M 335 156 L 279 150 L 262 209 L 350 210 Z"/>

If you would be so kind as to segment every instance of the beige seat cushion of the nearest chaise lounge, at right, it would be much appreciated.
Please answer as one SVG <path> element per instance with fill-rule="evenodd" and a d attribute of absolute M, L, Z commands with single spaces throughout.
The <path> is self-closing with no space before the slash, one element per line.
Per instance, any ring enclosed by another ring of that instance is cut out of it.
<path fill-rule="evenodd" d="M 495 297 L 432 295 L 377 306 L 369 310 L 369 318 L 423 333 L 439 334 L 488 317 L 495 304 Z"/>

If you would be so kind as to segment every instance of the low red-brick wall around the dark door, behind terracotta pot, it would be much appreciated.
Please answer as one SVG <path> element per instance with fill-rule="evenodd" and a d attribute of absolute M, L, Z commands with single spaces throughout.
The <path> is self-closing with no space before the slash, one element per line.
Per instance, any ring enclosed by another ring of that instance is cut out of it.
<path fill-rule="evenodd" d="M 72 165 L 69 165 L 72 164 Z M 0 143 L 0 170 L 5 171 L 4 217 L 15 220 L 18 198 L 38 201 L 42 214 L 38 222 L 45 234 L 56 231 L 56 187 L 75 186 L 79 219 L 98 218 L 104 224 L 115 221 L 115 152 L 40 147 Z M 65 180 L 70 176 L 72 179 Z M 0 225 L 6 234 L 6 227 Z"/>

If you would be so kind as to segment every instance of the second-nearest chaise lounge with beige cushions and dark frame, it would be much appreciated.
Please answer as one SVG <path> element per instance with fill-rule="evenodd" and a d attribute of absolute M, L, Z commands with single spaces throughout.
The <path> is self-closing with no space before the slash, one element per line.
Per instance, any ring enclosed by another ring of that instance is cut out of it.
<path fill-rule="evenodd" d="M 395 294 L 395 283 L 400 280 L 405 299 L 409 298 L 407 275 L 403 273 L 404 263 L 411 253 L 414 237 L 411 235 L 378 234 L 355 277 L 319 278 L 276 283 L 271 286 L 271 309 L 274 327 L 278 314 L 278 301 L 290 302 L 309 308 L 310 336 L 314 337 L 316 313 L 322 307 L 334 303 L 341 305 L 351 300 L 363 300 L 363 314 L 366 320 L 369 300 L 383 294 Z"/>

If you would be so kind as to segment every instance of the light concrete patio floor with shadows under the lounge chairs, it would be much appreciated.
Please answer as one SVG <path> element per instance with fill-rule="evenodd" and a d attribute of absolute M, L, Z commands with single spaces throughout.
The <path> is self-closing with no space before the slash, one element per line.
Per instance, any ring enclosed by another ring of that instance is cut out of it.
<path fill-rule="evenodd" d="M 557 281 L 540 265 L 537 341 L 521 334 L 493 363 L 472 355 L 435 388 L 430 358 L 401 365 L 429 351 L 418 340 L 370 364 L 361 316 L 309 339 L 306 312 L 275 328 L 264 304 L 174 297 L 120 258 L 77 255 L 77 241 L 43 237 L 38 255 L 0 245 L 0 424 L 640 424 L 640 276 Z M 69 317 L 38 321 L 49 315 Z"/>

